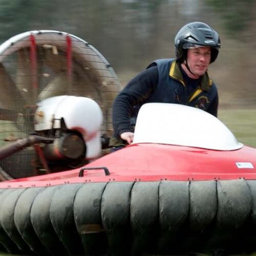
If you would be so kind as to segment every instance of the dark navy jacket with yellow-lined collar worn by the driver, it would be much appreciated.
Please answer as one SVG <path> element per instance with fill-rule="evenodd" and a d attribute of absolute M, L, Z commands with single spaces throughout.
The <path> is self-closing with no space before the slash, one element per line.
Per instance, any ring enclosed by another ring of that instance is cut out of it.
<path fill-rule="evenodd" d="M 116 138 L 133 131 L 140 106 L 148 102 L 194 106 L 217 116 L 218 92 L 207 73 L 200 79 L 191 79 L 175 59 L 156 60 L 116 97 L 112 113 Z"/>

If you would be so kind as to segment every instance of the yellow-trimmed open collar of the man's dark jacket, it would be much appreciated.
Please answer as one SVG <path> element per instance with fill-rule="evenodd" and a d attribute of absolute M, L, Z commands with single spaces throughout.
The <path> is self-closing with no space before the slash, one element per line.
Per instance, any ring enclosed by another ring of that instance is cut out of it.
<path fill-rule="evenodd" d="M 185 86 L 180 67 L 176 60 L 174 60 L 170 66 L 169 76 L 180 81 L 183 86 Z M 209 91 L 210 86 L 212 86 L 212 80 L 209 78 L 208 73 L 205 72 L 205 74 L 201 78 L 200 88 L 204 91 Z"/>

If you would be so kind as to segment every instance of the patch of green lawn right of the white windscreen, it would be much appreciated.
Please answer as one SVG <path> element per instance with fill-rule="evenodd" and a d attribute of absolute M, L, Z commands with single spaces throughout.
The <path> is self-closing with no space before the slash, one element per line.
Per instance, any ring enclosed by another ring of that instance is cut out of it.
<path fill-rule="evenodd" d="M 256 147 L 256 110 L 219 110 L 218 118 L 239 142 Z"/>

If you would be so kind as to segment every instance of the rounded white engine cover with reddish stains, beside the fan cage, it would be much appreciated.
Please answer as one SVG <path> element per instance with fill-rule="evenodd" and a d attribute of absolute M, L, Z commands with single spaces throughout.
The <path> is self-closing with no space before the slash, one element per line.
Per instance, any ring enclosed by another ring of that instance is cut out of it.
<path fill-rule="evenodd" d="M 103 116 L 98 103 L 90 98 L 78 96 L 56 96 L 37 103 L 35 131 L 59 129 L 63 118 L 69 130 L 76 130 L 87 146 L 87 159 L 101 153 L 100 126 Z"/>

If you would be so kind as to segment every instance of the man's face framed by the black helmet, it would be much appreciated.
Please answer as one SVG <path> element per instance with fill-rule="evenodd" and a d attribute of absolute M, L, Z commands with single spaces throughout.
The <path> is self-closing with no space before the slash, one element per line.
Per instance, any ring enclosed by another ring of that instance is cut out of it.
<path fill-rule="evenodd" d="M 210 64 L 210 47 L 188 49 L 187 63 L 189 69 L 196 76 L 202 76 Z"/>

